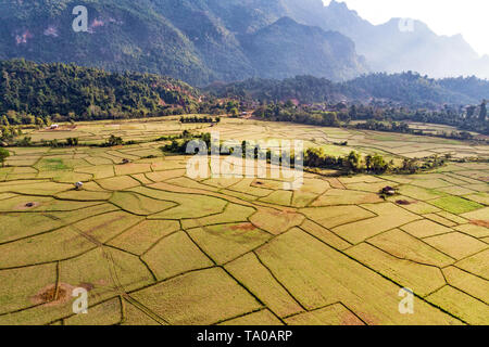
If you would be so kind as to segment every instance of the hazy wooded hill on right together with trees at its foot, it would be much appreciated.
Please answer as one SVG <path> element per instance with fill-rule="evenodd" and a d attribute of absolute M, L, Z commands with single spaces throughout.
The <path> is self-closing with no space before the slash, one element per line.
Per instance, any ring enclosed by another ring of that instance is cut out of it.
<path fill-rule="evenodd" d="M 376 120 L 391 124 L 369 124 L 366 129 L 375 126 L 375 130 L 397 132 L 406 129 L 394 123 L 418 121 L 489 134 L 482 101 L 489 98 L 489 82 L 475 77 L 436 80 L 409 72 L 372 74 L 335 83 L 325 78 L 297 76 L 213 85 L 206 91 L 214 98 L 240 100 L 243 108 L 252 108 L 256 117 L 267 120 L 321 126 Z M 466 131 L 442 136 L 469 139 Z"/>

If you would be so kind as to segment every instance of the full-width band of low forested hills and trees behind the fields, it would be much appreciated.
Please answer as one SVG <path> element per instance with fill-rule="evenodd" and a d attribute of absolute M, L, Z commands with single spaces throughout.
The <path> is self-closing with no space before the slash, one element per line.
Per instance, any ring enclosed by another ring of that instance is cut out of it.
<path fill-rule="evenodd" d="M 216 86 L 208 90 L 210 94 L 201 95 L 181 81 L 155 75 L 112 74 L 75 65 L 5 61 L 0 63 L 1 141 L 13 143 L 23 133 L 21 127 L 43 128 L 60 121 L 199 113 L 217 117 L 192 116 L 180 120 L 189 124 L 218 123 L 218 115 L 238 117 L 250 110 L 254 111 L 254 117 L 272 121 L 327 127 L 349 126 L 354 121 L 359 129 L 418 134 L 424 132 L 410 129 L 405 123 L 430 123 L 461 129 L 435 133 L 457 140 L 473 140 L 468 131 L 489 133 L 485 101 L 467 107 L 454 104 L 441 107 L 440 103 L 451 100 L 449 97 L 442 93 L 435 98 L 435 92 L 416 87 L 432 85 L 439 90 L 441 81 L 421 82 L 424 78 L 408 73 L 366 76 L 344 83 L 313 77 L 284 81 L 249 80 Z M 397 82 L 403 86 L 400 91 L 392 87 Z M 371 93 L 371 89 L 378 95 Z M 385 94 L 379 90 L 385 90 Z M 422 100 L 418 93 L 424 92 L 428 99 L 431 98 L 424 103 L 397 97 L 397 93 L 414 93 L 414 99 Z M 349 95 L 347 99 L 350 101 L 336 102 L 338 95 Z M 363 101 L 365 98 L 379 98 L 381 101 L 374 99 L 366 103 Z"/>

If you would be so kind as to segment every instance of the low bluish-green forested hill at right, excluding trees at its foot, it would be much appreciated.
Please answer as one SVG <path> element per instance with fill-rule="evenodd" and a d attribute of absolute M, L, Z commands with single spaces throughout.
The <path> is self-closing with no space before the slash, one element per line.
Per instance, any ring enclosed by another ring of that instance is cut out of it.
<path fill-rule="evenodd" d="M 489 81 L 471 78 L 431 79 L 415 73 L 371 74 L 347 82 L 297 76 L 284 80 L 248 79 L 235 83 L 214 83 L 206 89 L 220 98 L 242 100 L 318 102 L 369 102 L 379 100 L 410 106 L 473 104 L 489 99 Z"/>

